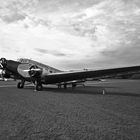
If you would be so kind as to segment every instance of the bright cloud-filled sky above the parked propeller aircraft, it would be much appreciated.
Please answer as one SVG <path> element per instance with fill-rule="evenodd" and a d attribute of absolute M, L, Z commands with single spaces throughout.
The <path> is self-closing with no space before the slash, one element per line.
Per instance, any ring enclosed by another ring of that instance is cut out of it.
<path fill-rule="evenodd" d="M 0 3 L 0 57 L 62 70 L 140 65 L 139 0 Z"/>

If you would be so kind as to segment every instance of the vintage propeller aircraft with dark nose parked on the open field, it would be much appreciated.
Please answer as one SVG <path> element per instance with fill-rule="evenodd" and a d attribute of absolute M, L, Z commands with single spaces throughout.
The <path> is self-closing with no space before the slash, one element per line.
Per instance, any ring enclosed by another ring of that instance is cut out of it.
<path fill-rule="evenodd" d="M 136 74 L 140 72 L 140 66 L 65 72 L 40 64 L 38 62 L 32 63 L 6 60 L 5 58 L 0 59 L 0 69 L 3 71 L 3 77 L 20 79 L 21 81 L 18 82 L 17 88 L 23 88 L 26 81 L 32 82 L 38 91 L 43 89 L 43 84 L 63 85 L 64 88 L 68 84 L 71 84 L 72 87 L 76 87 L 78 82 L 84 82 L 86 78 L 99 78 L 116 74 Z"/>

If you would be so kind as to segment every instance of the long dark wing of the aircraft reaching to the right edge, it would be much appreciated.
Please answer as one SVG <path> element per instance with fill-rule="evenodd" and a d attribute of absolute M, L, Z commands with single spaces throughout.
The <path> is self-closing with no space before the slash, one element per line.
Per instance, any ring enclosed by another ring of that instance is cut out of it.
<path fill-rule="evenodd" d="M 136 74 L 140 72 L 140 66 L 132 67 L 123 67 L 123 68 L 114 68 L 114 69 L 102 69 L 102 70 L 93 70 L 93 71 L 77 71 L 77 72 L 59 72 L 59 73 L 50 73 L 45 76 L 46 84 L 67 82 L 72 80 L 80 80 L 86 78 L 96 78 L 103 76 L 112 76 L 112 75 L 125 75 L 125 74 Z"/>

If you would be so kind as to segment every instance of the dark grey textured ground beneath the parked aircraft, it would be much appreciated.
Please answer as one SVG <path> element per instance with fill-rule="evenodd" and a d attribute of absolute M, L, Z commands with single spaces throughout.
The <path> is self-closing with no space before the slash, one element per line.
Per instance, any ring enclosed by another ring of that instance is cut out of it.
<path fill-rule="evenodd" d="M 140 80 L 17 89 L 0 81 L 0 140 L 139 140 Z"/>

